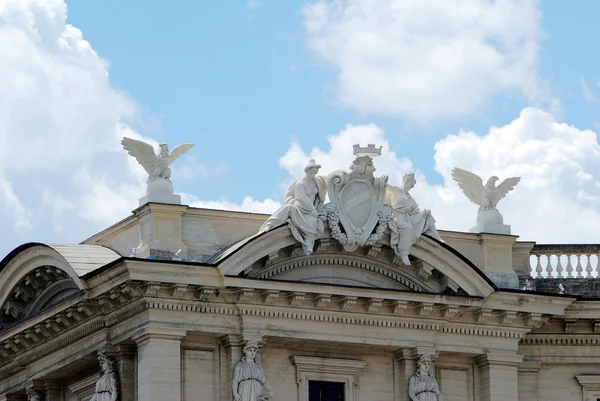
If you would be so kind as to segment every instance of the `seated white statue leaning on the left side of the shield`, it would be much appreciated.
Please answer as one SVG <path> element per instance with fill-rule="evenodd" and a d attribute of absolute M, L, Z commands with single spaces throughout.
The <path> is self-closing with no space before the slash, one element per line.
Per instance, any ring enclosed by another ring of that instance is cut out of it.
<path fill-rule="evenodd" d="M 308 162 L 304 168 L 305 176 L 294 181 L 285 194 L 284 205 L 264 222 L 260 232 L 287 223 L 304 252 L 309 254 L 313 251 L 317 236 L 324 232 L 323 202 L 327 186 L 325 178 L 317 175 L 320 168 L 314 159 Z"/>

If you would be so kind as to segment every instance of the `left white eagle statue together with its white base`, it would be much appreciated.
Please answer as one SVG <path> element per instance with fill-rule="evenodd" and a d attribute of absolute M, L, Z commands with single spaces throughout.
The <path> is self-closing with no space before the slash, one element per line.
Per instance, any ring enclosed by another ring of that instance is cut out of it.
<path fill-rule="evenodd" d="M 178 145 L 171 152 L 166 143 L 161 143 L 158 153 L 154 152 L 154 147 L 149 143 L 127 137 L 121 140 L 121 145 L 148 173 L 146 196 L 140 199 L 140 205 L 146 202 L 181 203 L 181 197 L 173 194 L 169 166 L 190 150 L 193 143 Z"/>

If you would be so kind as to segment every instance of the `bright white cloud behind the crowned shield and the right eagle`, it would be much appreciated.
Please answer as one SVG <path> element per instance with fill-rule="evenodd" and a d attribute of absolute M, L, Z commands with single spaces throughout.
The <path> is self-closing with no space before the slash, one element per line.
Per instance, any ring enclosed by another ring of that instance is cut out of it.
<path fill-rule="evenodd" d="M 475 225 L 477 206 L 470 203 L 451 178 L 454 167 L 479 174 L 486 180 L 520 176 L 516 189 L 499 203 L 512 232 L 537 242 L 597 242 L 600 227 L 600 146 L 594 132 L 579 130 L 539 109 L 526 108 L 514 121 L 492 127 L 485 135 L 459 132 L 435 145 L 435 168 L 442 185 L 430 185 L 410 160 L 389 148 L 376 125 L 347 126 L 329 137 L 330 149 L 309 153 L 291 144 L 280 166 L 292 177 L 302 174 L 309 158 L 323 166 L 320 173 L 347 169 L 352 144 L 375 143 L 383 154 L 375 158 L 378 174 L 400 185 L 402 176 L 416 170 L 418 184 L 412 193 L 421 208 L 431 209 L 441 229 L 468 231 Z M 287 183 L 286 183 L 287 184 Z"/>

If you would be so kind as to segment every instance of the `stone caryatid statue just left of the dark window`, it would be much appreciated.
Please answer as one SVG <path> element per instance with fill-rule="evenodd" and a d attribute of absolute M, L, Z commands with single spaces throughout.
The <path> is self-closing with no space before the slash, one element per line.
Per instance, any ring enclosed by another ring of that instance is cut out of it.
<path fill-rule="evenodd" d="M 273 389 L 265 377 L 260 363 L 256 362 L 258 342 L 248 340 L 243 349 L 244 356 L 233 371 L 234 401 L 267 401 L 273 397 Z M 266 394 L 263 392 L 266 390 Z"/>

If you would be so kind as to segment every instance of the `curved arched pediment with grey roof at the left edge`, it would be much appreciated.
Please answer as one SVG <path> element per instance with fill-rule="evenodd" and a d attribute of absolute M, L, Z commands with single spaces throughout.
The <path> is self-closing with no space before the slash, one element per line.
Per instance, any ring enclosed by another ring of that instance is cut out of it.
<path fill-rule="evenodd" d="M 83 290 L 80 276 L 90 260 L 99 265 L 118 258 L 97 245 L 28 243 L 14 249 L 0 262 L 0 330 Z"/>

